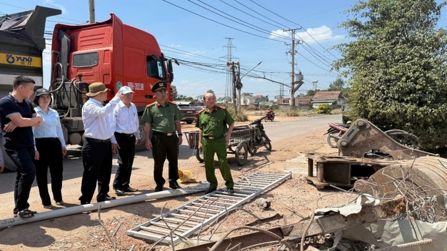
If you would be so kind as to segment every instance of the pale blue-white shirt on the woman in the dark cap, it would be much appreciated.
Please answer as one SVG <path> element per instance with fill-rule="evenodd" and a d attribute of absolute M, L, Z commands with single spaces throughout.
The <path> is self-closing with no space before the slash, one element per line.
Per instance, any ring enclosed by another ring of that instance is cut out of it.
<path fill-rule="evenodd" d="M 34 111 L 42 116 L 42 123 L 40 126 L 33 126 L 34 134 L 34 148 L 36 148 L 36 138 L 59 138 L 60 145 L 66 147 L 65 139 L 63 139 L 62 127 L 60 125 L 59 113 L 55 110 L 48 108 L 48 114 L 46 114 L 40 106 L 37 106 Z"/>

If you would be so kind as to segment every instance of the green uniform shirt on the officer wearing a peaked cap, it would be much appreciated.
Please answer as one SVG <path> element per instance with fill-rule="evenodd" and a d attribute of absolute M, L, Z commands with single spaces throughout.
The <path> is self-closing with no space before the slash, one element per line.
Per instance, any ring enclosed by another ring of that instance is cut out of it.
<path fill-rule="evenodd" d="M 183 116 L 175 103 L 166 101 L 165 107 L 157 101 L 146 106 L 141 121 L 149 123 L 152 130 L 157 132 L 175 132 L 175 121 Z"/>

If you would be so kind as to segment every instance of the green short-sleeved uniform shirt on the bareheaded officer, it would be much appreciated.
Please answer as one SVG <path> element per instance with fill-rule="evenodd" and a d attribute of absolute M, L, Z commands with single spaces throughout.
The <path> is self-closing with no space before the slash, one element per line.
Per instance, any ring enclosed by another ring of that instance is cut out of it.
<path fill-rule="evenodd" d="M 203 130 L 204 136 L 221 136 L 228 131 L 227 125 L 234 123 L 230 113 L 225 108 L 214 106 L 213 111 L 205 109 L 200 112 L 196 127 Z"/>

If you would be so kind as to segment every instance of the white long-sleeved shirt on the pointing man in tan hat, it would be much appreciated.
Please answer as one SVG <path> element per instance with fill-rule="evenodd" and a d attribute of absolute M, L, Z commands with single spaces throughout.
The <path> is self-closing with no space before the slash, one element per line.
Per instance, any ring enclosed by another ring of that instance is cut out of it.
<path fill-rule="evenodd" d="M 89 98 L 85 102 L 82 106 L 85 137 L 102 140 L 112 137 L 116 125 L 113 109 L 119 101 L 121 100 L 118 97 L 114 97 L 105 106 L 94 98 Z"/>

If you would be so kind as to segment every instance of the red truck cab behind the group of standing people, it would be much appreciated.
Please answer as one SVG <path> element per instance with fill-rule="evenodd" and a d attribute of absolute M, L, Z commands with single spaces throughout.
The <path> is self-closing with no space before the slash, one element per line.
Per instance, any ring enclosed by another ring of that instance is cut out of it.
<path fill-rule="evenodd" d="M 109 20 L 92 24 L 55 25 L 51 81 L 61 78 L 60 62 L 67 67 L 63 69 L 67 80 L 82 75 L 82 81 L 88 84 L 103 82 L 111 90 L 109 100 L 121 86 L 129 86 L 135 91 L 133 102 L 141 110 L 155 101 L 151 85 L 166 81 L 170 87 L 172 65 L 153 35 L 110 15 Z M 67 51 L 64 46 L 68 47 L 67 59 L 62 57 Z M 172 90 L 168 90 L 170 99 Z"/>

